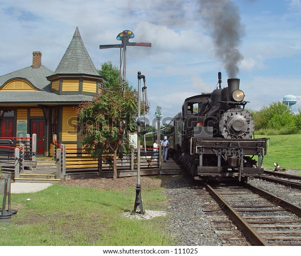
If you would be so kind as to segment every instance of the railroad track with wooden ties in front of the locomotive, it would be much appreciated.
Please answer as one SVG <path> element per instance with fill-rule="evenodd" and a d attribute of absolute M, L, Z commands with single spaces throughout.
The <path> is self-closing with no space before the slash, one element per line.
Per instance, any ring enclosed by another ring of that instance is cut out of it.
<path fill-rule="evenodd" d="M 222 205 L 251 245 L 301 245 L 299 206 L 250 184 L 203 185 Z"/>

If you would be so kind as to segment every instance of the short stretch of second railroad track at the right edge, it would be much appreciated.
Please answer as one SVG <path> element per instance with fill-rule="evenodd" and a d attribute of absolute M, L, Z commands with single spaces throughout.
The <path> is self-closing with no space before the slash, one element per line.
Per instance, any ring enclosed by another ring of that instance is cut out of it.
<path fill-rule="evenodd" d="M 262 180 L 301 189 L 301 176 L 271 171 L 264 171 L 264 174 L 265 176 L 260 177 Z"/>

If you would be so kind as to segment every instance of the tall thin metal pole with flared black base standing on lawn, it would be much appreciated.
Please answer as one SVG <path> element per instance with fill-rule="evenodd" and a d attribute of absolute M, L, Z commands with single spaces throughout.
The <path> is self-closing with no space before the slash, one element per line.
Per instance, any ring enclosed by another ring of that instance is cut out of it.
<path fill-rule="evenodd" d="M 140 213 L 144 214 L 142 199 L 141 199 L 141 185 L 140 185 L 140 89 L 141 89 L 141 72 L 138 72 L 138 114 L 137 114 L 137 185 L 136 185 L 136 197 L 134 203 L 134 209 L 132 214 Z M 137 212 L 137 206 L 140 208 L 140 211 Z"/>

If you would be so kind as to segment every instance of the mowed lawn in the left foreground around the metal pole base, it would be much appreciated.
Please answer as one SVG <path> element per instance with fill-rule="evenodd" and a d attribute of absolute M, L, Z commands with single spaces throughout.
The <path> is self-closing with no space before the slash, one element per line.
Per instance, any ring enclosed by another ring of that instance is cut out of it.
<path fill-rule="evenodd" d="M 142 188 L 143 208 L 165 209 L 163 194 L 163 188 Z M 10 222 L 0 222 L 0 245 L 173 245 L 162 227 L 166 217 L 123 216 L 133 209 L 134 199 L 134 188 L 114 191 L 58 184 L 36 193 L 12 194 L 12 209 L 18 213 Z"/>

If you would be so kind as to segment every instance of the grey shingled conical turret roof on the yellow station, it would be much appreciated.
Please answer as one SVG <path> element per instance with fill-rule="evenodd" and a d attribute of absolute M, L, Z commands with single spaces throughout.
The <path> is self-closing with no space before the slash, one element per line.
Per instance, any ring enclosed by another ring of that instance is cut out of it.
<path fill-rule="evenodd" d="M 73 38 L 54 75 L 87 74 L 99 76 L 76 27 Z"/>

